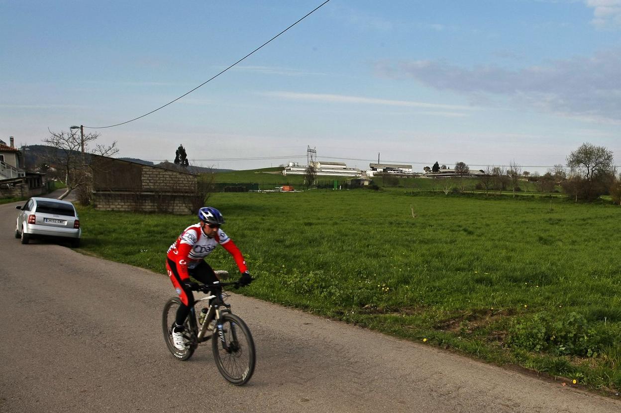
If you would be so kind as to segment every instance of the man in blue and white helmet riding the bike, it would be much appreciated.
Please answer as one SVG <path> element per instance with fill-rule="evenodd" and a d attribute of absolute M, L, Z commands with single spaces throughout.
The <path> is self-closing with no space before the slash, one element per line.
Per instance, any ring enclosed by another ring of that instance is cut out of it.
<path fill-rule="evenodd" d="M 187 348 L 188 344 L 183 337 L 183 324 L 191 306 L 194 305 L 192 291 L 199 288 L 199 284 L 192 281 L 190 276 L 203 284 L 219 281 L 214 270 L 204 260 L 218 244 L 235 259 L 242 273 L 242 278 L 239 279 L 240 285 L 248 285 L 253 279 L 237 245 L 220 229 L 220 225 L 224 224 L 224 217 L 220 211 L 214 207 L 202 207 L 198 211 L 198 217 L 200 219 L 198 224 L 184 229 L 166 254 L 166 272 L 182 303 L 177 310 L 173 327 L 173 343 L 178 350 Z"/>

